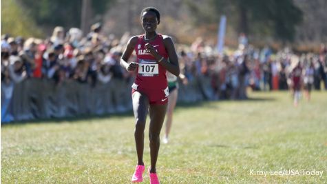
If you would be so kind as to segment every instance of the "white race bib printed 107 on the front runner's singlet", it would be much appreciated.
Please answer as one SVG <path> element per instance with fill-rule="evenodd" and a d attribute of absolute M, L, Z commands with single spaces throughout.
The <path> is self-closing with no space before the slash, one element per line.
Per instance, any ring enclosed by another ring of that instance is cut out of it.
<path fill-rule="evenodd" d="M 154 60 L 140 59 L 138 61 L 138 74 L 141 76 L 156 76 L 159 74 L 159 65 Z"/>

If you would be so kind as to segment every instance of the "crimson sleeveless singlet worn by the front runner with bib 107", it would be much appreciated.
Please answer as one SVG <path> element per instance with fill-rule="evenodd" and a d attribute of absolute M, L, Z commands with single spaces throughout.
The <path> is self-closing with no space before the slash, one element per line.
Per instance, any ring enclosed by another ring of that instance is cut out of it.
<path fill-rule="evenodd" d="M 138 36 L 138 43 L 135 45 L 136 57 L 138 66 L 138 74 L 135 79 L 135 84 L 145 90 L 163 90 L 167 88 L 166 69 L 158 64 L 156 59 L 146 51 L 145 44 L 150 43 L 154 46 L 158 54 L 168 58 L 168 53 L 163 43 L 161 34 L 156 36 L 153 41 L 145 42 L 144 34 Z"/>

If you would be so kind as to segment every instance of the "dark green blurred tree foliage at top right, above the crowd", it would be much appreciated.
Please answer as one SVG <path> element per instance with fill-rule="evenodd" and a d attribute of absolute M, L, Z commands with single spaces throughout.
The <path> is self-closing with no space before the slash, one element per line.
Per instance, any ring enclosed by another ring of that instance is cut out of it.
<path fill-rule="evenodd" d="M 293 0 L 209 0 L 216 17 L 238 17 L 238 32 L 273 35 L 282 41 L 293 41 L 295 28 L 302 22 L 302 11 Z"/>

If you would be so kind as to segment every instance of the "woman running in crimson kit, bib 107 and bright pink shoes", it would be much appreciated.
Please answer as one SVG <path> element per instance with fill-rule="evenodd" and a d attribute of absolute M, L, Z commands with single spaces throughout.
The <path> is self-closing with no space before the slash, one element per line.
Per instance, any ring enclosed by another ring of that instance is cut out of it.
<path fill-rule="evenodd" d="M 132 182 L 142 182 L 145 165 L 143 163 L 144 130 L 149 109 L 149 141 L 151 166 L 150 183 L 159 183 L 156 174 L 156 162 L 160 146 L 160 130 L 165 119 L 168 102 L 168 84 L 166 70 L 178 76 L 180 68 L 173 41 L 166 35 L 156 32 L 160 23 L 160 13 L 156 8 L 148 7 L 140 14 L 145 34 L 131 37 L 123 52 L 120 65 L 128 71 L 136 71 L 137 76 L 131 86 L 133 110 L 135 116 L 135 143 L 138 165 L 131 178 Z M 136 62 L 127 63 L 133 51 Z"/>

